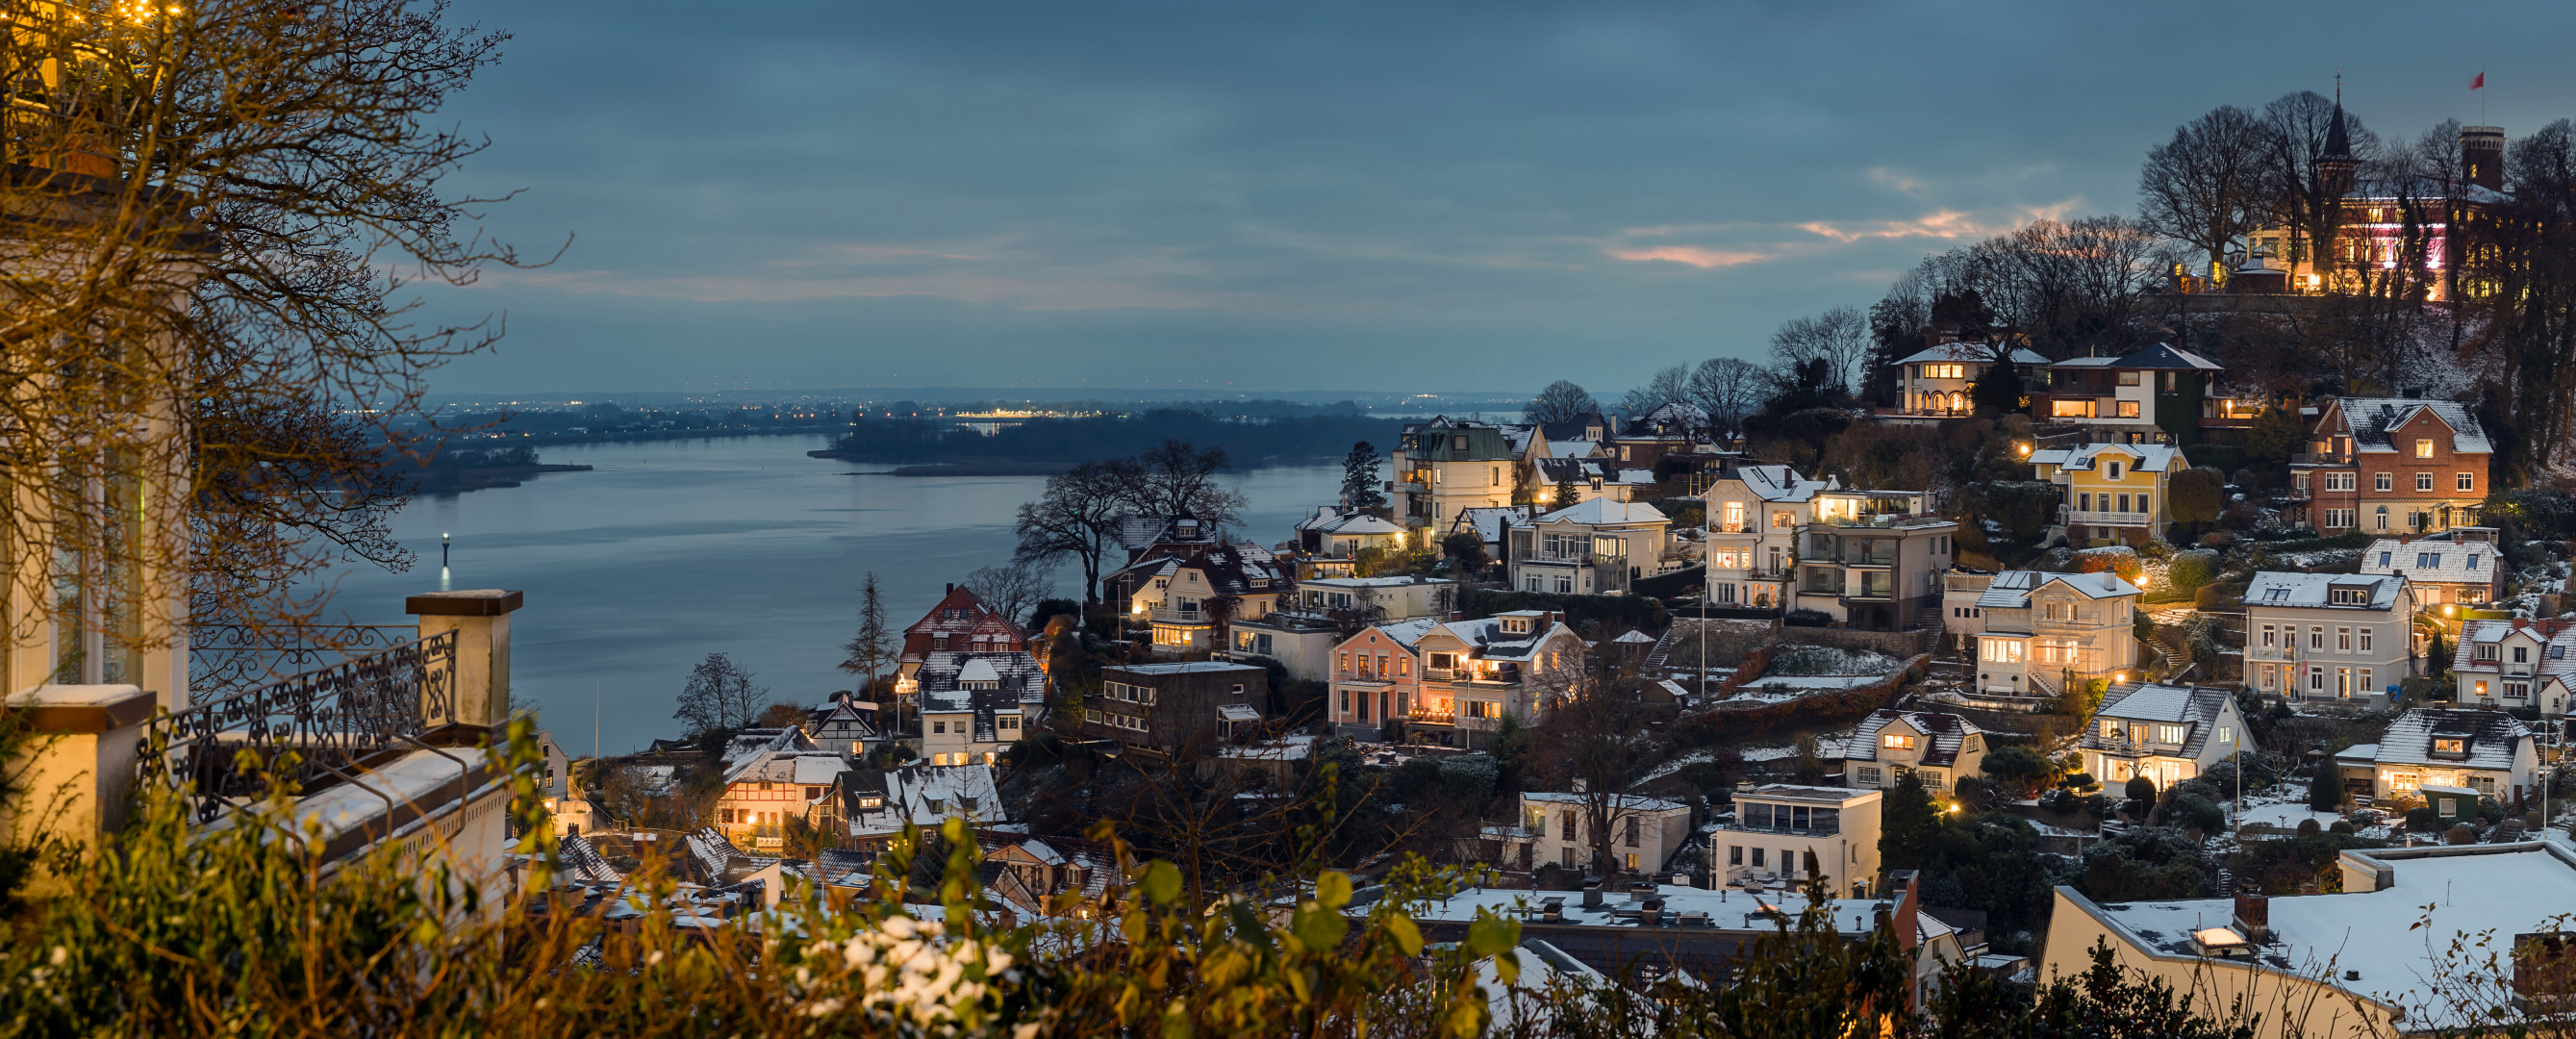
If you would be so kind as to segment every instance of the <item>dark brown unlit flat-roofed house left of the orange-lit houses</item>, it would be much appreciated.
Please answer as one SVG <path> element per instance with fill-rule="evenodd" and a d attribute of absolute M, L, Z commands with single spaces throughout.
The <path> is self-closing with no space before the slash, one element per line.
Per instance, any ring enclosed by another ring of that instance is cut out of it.
<path fill-rule="evenodd" d="M 1100 670 L 1082 699 L 1082 730 L 1128 750 L 1198 758 L 1249 732 L 1270 701 L 1270 670 L 1247 663 L 1139 663 Z"/>

